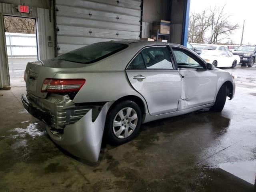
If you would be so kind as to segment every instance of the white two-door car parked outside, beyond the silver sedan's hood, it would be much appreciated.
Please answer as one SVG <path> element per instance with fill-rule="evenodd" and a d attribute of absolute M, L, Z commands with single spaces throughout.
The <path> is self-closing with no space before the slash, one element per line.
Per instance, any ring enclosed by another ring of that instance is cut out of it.
<path fill-rule="evenodd" d="M 233 55 L 229 51 L 207 51 L 200 55 L 206 62 L 213 64 L 217 67 L 231 67 L 236 68 L 240 63 L 240 57 Z"/>

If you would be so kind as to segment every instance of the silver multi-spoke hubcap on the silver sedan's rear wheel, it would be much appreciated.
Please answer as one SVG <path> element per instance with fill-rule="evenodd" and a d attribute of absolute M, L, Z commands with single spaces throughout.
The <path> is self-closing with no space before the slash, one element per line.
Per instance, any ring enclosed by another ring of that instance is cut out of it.
<path fill-rule="evenodd" d="M 126 107 L 121 109 L 115 116 L 113 121 L 113 132 L 120 139 L 130 136 L 138 122 L 138 116 L 133 108 Z"/>

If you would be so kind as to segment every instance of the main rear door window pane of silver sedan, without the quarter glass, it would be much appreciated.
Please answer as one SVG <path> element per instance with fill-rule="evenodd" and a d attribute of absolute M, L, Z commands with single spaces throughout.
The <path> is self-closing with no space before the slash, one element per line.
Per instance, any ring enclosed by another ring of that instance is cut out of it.
<path fill-rule="evenodd" d="M 147 69 L 173 69 L 167 47 L 149 47 L 141 51 Z"/>

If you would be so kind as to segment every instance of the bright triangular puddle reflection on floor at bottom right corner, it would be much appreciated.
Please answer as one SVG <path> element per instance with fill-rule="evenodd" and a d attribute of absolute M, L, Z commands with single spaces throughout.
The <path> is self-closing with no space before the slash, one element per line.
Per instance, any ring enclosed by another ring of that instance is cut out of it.
<path fill-rule="evenodd" d="M 222 163 L 220 164 L 219 168 L 249 182 L 250 184 L 254 185 L 255 183 L 256 160 Z"/>

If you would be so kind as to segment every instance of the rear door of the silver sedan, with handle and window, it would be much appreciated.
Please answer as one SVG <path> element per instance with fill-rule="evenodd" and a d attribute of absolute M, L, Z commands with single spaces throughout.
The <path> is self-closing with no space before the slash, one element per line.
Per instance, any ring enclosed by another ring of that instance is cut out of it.
<path fill-rule="evenodd" d="M 181 79 L 167 46 L 142 49 L 129 63 L 126 74 L 146 100 L 150 115 L 176 111 Z"/>

